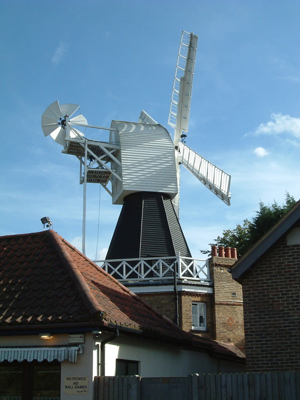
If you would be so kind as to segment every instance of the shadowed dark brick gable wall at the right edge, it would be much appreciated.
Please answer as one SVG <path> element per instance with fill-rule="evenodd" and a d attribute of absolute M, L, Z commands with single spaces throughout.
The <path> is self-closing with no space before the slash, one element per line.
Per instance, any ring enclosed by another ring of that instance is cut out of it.
<path fill-rule="evenodd" d="M 278 240 L 242 276 L 247 370 L 300 369 L 300 245 Z"/>

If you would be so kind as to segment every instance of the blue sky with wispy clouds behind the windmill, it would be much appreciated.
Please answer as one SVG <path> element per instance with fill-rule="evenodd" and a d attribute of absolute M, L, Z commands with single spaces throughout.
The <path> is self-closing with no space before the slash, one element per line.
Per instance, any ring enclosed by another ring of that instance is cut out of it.
<path fill-rule="evenodd" d="M 53 229 L 81 249 L 79 162 L 44 137 L 56 99 L 80 104 L 88 123 L 167 126 L 182 29 L 199 36 L 186 144 L 231 174 L 228 207 L 182 170 L 180 222 L 204 256 L 258 203 L 300 197 L 298 1 L 0 1 L 0 234 Z M 172 128 L 168 127 L 172 134 Z M 105 131 L 86 134 L 108 140 Z M 87 187 L 86 254 L 103 258 L 119 205 Z"/>

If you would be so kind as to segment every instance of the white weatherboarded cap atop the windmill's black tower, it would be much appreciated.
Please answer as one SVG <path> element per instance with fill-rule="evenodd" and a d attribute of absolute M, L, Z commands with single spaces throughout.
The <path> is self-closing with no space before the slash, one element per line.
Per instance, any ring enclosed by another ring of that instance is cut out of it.
<path fill-rule="evenodd" d="M 120 146 L 115 154 L 121 165 L 111 168 L 121 181 L 111 178 L 112 202 L 138 191 L 166 193 L 173 198 L 178 192 L 174 144 L 169 132 L 160 124 L 111 122 L 109 142 Z"/>

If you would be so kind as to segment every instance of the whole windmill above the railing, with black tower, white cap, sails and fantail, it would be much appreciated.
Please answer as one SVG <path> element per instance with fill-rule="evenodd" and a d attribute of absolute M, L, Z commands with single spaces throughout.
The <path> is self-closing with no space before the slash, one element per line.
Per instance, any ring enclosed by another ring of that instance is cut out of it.
<path fill-rule="evenodd" d="M 75 112 L 76 104 L 54 101 L 44 111 L 41 124 L 63 146 L 62 152 L 80 161 L 83 183 L 82 250 L 85 237 L 86 183 L 100 183 L 112 203 L 123 204 L 107 259 L 191 256 L 178 220 L 179 165 L 183 165 L 209 190 L 230 204 L 230 176 L 187 147 L 193 69 L 197 36 L 182 31 L 173 83 L 167 129 L 145 111 L 138 122 L 112 120 L 109 128 L 88 125 Z M 109 141 L 86 138 L 76 126 L 109 130 Z M 110 182 L 111 188 L 107 185 Z"/>

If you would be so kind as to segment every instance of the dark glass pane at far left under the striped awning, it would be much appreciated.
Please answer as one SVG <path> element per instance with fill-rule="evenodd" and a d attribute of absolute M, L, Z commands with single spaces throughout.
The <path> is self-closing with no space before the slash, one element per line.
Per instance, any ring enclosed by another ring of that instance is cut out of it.
<path fill-rule="evenodd" d="M 21 365 L 0 366 L 0 400 L 6 396 L 19 397 L 22 393 Z"/>

